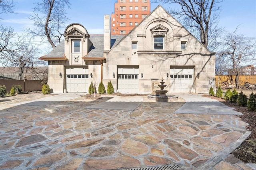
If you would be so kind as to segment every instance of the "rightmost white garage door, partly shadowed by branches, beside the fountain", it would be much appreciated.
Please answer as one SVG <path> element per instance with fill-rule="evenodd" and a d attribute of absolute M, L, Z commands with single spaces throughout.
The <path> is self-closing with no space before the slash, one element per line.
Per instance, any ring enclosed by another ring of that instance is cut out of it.
<path fill-rule="evenodd" d="M 193 82 L 194 69 L 170 69 L 170 93 L 190 93 Z"/>

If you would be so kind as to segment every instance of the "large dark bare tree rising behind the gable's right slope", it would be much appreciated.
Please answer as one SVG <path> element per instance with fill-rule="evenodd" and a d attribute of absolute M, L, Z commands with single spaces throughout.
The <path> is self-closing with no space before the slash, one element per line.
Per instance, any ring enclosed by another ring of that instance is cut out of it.
<path fill-rule="evenodd" d="M 221 6 L 218 6 L 223 0 L 154 0 L 153 2 L 162 2 L 164 4 L 179 4 L 180 10 L 172 10 L 168 12 L 178 17 L 179 22 L 187 28 L 204 47 L 213 48 L 216 45 L 216 37 L 221 33 L 221 29 L 217 27 Z"/>

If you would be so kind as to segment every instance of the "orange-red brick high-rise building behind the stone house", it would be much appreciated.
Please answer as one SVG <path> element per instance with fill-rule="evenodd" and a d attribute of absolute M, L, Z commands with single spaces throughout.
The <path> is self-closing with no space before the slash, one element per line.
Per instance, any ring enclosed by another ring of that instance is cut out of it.
<path fill-rule="evenodd" d="M 118 0 L 111 14 L 111 34 L 128 34 L 150 14 L 150 0 Z"/>

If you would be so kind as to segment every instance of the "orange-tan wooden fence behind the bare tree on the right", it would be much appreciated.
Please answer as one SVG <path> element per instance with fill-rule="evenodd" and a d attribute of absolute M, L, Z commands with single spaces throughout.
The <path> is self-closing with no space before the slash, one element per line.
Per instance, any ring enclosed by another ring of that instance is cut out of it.
<path fill-rule="evenodd" d="M 235 75 L 220 75 L 219 85 L 223 88 L 233 88 L 235 87 Z M 215 75 L 216 87 L 218 85 L 218 75 Z M 256 84 L 256 75 L 239 75 L 240 86 L 244 85 L 246 82 L 250 84 Z"/>

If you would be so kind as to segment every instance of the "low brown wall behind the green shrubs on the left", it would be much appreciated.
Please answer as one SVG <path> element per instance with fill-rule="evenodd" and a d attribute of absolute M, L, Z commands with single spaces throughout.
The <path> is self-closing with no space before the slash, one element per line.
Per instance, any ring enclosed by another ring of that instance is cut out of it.
<path fill-rule="evenodd" d="M 21 85 L 22 91 L 41 91 L 42 85 L 40 80 L 10 80 L 0 79 L 0 85 L 6 86 L 6 92 L 10 92 L 12 85 Z"/>

